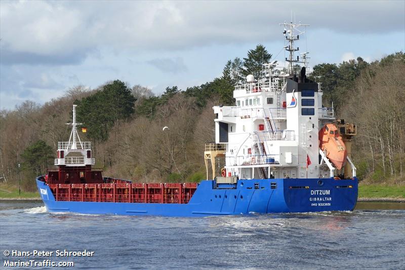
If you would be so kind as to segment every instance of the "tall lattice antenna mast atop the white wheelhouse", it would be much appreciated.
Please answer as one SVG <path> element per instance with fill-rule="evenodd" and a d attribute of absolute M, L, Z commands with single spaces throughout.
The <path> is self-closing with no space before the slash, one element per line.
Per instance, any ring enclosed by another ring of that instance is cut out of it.
<path fill-rule="evenodd" d="M 290 75 L 293 75 L 295 73 L 294 63 L 303 63 L 302 61 L 300 61 L 299 56 L 297 56 L 297 58 L 295 58 L 295 56 L 294 56 L 294 52 L 300 50 L 299 47 L 294 48 L 294 42 L 298 41 L 300 39 L 300 34 L 305 33 L 305 31 L 300 31 L 298 28 L 300 26 L 309 26 L 309 24 L 301 24 L 301 22 L 299 22 L 298 24 L 293 23 L 293 22 L 287 23 L 285 21 L 284 23 L 280 23 L 280 25 L 284 26 L 283 33 L 284 33 L 284 36 L 286 36 L 286 40 L 289 43 L 288 46 L 284 47 L 286 49 L 286 51 L 288 51 L 290 54 L 290 56 L 288 58 L 286 57 L 286 61 L 288 62 L 287 71 Z M 288 30 L 286 28 L 288 28 Z"/>

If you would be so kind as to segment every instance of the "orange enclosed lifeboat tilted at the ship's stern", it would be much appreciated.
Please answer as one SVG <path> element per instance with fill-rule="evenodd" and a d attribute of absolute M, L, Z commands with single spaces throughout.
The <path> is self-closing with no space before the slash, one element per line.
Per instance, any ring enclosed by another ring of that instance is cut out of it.
<path fill-rule="evenodd" d="M 345 143 L 334 124 L 326 124 L 319 130 L 319 148 L 339 170 L 345 166 L 347 151 Z"/>

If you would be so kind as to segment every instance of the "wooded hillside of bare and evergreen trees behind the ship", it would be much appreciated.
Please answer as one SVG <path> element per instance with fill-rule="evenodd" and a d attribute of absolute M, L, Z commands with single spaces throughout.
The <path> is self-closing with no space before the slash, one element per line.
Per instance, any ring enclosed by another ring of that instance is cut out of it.
<path fill-rule="evenodd" d="M 229 60 L 222 76 L 185 90 L 169 86 L 160 96 L 141 85 L 107 81 L 97 89 L 74 86 L 40 105 L 26 101 L 0 111 L 0 182 L 34 191 L 35 177 L 54 167 L 57 142 L 70 135 L 72 105 L 104 175 L 138 182 L 206 178 L 204 144 L 215 140 L 214 105 L 234 105 L 234 85 L 260 78 L 272 55 L 262 45 Z M 362 58 L 315 65 L 323 105 L 337 119 L 357 125 L 352 160 L 360 183 L 405 185 L 405 55 L 368 63 Z M 163 131 L 163 127 L 169 127 Z M 80 130 L 78 130 L 80 131 Z"/>

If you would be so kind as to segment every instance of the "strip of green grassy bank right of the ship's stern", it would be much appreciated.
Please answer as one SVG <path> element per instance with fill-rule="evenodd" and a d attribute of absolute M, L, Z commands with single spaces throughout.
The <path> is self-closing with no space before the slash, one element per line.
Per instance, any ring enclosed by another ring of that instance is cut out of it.
<path fill-rule="evenodd" d="M 359 185 L 358 198 L 399 198 L 405 199 L 405 186 Z"/>

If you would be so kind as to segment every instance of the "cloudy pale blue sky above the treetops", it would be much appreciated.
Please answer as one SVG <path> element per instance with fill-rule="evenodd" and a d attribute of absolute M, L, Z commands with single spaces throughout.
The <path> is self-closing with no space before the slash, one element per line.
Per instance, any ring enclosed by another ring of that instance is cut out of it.
<path fill-rule="evenodd" d="M 121 80 L 159 95 L 219 77 L 263 44 L 285 58 L 279 23 L 309 24 L 309 66 L 405 51 L 405 1 L 0 1 L 0 109 Z"/>

